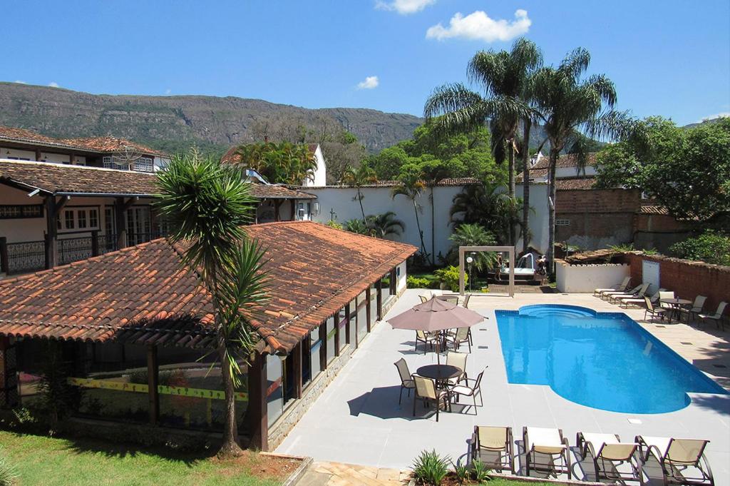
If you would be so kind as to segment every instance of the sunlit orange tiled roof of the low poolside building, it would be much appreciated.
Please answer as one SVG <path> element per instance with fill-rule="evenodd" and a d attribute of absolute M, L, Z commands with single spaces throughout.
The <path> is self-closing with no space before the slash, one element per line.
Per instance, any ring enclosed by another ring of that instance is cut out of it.
<path fill-rule="evenodd" d="M 255 224 L 266 248 L 269 305 L 255 322 L 269 349 L 288 352 L 414 246 L 310 221 Z M 0 281 L 0 334 L 206 347 L 210 295 L 181 269 L 167 240 Z"/>

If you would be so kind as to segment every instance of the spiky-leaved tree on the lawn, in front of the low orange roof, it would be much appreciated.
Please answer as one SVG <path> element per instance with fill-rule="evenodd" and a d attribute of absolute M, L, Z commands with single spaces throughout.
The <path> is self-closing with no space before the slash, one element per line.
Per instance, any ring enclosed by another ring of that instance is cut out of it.
<path fill-rule="evenodd" d="M 256 342 L 251 326 L 266 303 L 264 251 L 246 238 L 253 198 L 239 167 L 203 159 L 193 151 L 158 172 L 155 207 L 169 224 L 169 239 L 182 242 L 183 265 L 210 292 L 218 360 L 226 397 L 226 424 L 219 455 L 240 455 L 236 401 L 239 361 L 248 362 Z"/>

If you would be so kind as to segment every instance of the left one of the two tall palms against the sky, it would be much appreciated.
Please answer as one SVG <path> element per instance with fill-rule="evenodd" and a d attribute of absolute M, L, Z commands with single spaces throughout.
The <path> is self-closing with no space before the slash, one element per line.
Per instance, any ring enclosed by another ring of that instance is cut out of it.
<path fill-rule="evenodd" d="M 531 72 L 542 63 L 542 54 L 534 42 L 520 38 L 512 50 L 488 50 L 475 54 L 467 75 L 478 84 L 484 95 L 469 91 L 461 84 L 437 88 L 426 101 L 426 120 L 444 113 L 434 120 L 439 131 L 454 133 L 471 131 L 489 121 L 491 143 L 496 162 L 507 156 L 509 176 L 508 194 L 515 195 L 515 135 L 529 107 L 521 99 L 526 92 Z M 510 227 L 510 243 L 515 242 L 515 229 Z"/>

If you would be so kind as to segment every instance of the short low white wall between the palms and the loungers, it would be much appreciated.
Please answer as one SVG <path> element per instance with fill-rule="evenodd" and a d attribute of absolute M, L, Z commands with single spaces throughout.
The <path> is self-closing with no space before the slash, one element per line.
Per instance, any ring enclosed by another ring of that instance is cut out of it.
<path fill-rule="evenodd" d="M 629 265 L 570 265 L 556 259 L 556 284 L 560 292 L 593 292 L 594 289 L 607 289 L 620 284 L 630 270 Z"/>

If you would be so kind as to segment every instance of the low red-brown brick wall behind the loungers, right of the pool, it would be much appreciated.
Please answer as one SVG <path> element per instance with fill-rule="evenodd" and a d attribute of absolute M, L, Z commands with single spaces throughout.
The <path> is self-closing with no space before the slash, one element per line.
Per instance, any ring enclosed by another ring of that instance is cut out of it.
<path fill-rule="evenodd" d="M 642 260 L 649 260 L 659 262 L 659 285 L 672 290 L 680 299 L 694 300 L 697 295 L 704 295 L 705 311 L 709 312 L 714 312 L 723 300 L 730 302 L 730 267 L 631 253 L 616 260 L 631 265 L 632 285 L 642 281 Z"/>

